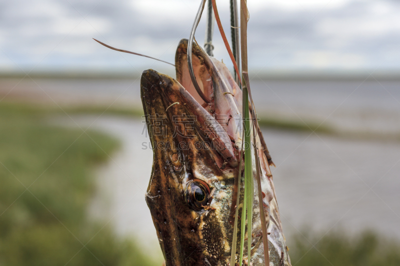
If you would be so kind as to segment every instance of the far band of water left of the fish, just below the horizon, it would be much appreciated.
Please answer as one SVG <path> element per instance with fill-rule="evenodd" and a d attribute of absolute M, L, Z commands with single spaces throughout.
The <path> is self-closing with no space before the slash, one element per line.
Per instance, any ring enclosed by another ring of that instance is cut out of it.
<path fill-rule="evenodd" d="M 106 105 L 125 107 L 140 103 L 140 79 L 2 78 L 0 96 L 59 105 Z"/>

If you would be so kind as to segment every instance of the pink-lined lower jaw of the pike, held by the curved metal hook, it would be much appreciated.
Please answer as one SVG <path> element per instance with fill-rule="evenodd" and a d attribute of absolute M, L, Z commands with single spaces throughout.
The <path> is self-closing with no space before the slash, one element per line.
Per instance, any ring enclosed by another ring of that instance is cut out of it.
<path fill-rule="evenodd" d="M 227 67 L 193 43 L 192 65 L 194 75 L 202 92 L 211 99 L 210 103 L 198 96 L 190 79 L 187 66 L 187 39 L 182 39 L 175 54 L 176 80 L 214 115 L 226 133 L 235 141 L 241 142 L 241 90 L 235 83 Z"/>

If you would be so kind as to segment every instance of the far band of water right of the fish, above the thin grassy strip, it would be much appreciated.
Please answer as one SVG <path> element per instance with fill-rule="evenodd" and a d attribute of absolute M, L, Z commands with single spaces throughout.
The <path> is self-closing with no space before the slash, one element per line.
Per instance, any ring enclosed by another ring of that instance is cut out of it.
<path fill-rule="evenodd" d="M 262 81 L 254 79 L 258 113 L 316 122 L 337 130 L 400 132 L 400 82 Z"/>

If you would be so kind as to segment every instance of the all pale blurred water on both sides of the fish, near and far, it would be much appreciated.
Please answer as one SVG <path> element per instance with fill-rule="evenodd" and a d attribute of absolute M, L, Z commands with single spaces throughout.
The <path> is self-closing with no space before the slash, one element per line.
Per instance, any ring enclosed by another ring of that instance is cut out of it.
<path fill-rule="evenodd" d="M 14 86 L 1 81 L 0 92 Z M 258 113 L 282 119 L 323 122 L 342 130 L 400 132 L 400 82 L 252 80 Z M 138 81 L 29 80 L 6 98 L 35 95 L 62 104 L 102 103 L 141 107 Z M 5 85 L 4 85 L 5 84 Z M 43 90 L 46 92 L 44 93 Z M 51 99 L 47 96 L 51 96 Z M 29 97 L 30 97 L 29 96 Z M 122 150 L 97 171 L 93 217 L 110 221 L 121 236 L 134 236 L 143 247 L 159 252 L 144 201 L 151 171 L 151 150 L 142 150 L 140 119 L 79 116 L 81 125 L 122 140 Z M 57 123 L 73 126 L 70 121 Z M 346 140 L 310 134 L 263 130 L 276 164 L 272 168 L 281 221 L 287 238 L 304 226 L 322 233 L 341 228 L 356 233 L 370 228 L 400 239 L 400 143 Z M 104 216 L 106 216 L 104 218 Z"/>

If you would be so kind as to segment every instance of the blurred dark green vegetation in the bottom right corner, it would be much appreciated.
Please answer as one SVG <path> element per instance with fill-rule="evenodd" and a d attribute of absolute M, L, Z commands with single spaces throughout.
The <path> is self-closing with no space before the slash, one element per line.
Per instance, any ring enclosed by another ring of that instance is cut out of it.
<path fill-rule="evenodd" d="M 302 235 L 309 242 L 299 234 L 290 239 L 292 266 L 400 265 L 400 243 L 384 240 L 369 231 L 354 238 L 343 232 L 331 232 L 323 237 L 315 233 Z"/>

